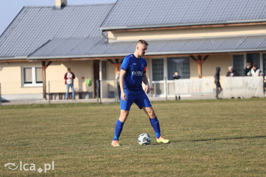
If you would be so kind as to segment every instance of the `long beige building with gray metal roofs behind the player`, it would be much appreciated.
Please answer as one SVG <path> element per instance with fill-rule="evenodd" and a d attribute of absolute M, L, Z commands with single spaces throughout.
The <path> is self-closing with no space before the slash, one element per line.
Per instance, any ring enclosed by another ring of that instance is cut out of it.
<path fill-rule="evenodd" d="M 51 92 L 64 92 L 61 75 L 69 67 L 77 73 L 75 91 L 92 98 L 96 79 L 114 79 L 139 39 L 149 43 L 150 96 L 172 95 L 175 70 L 183 78 L 213 78 L 220 66 L 223 79 L 228 66 L 243 75 L 251 62 L 266 72 L 263 0 L 118 0 L 77 6 L 56 1 L 61 6 L 23 7 L 0 36 L 0 82 L 7 83 L 3 93 L 9 98 L 40 93 L 46 98 L 47 81 Z M 11 73 L 16 77 L 4 77 Z M 85 78 L 93 80 L 92 87 L 86 87 Z M 111 89 L 104 91 L 104 84 Z M 114 84 L 102 83 L 101 97 L 111 92 Z"/>

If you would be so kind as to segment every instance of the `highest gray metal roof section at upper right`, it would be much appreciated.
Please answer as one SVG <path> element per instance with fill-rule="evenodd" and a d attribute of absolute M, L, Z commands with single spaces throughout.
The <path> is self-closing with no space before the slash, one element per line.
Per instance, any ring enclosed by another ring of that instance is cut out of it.
<path fill-rule="evenodd" d="M 102 30 L 266 21 L 265 0 L 118 0 Z"/>

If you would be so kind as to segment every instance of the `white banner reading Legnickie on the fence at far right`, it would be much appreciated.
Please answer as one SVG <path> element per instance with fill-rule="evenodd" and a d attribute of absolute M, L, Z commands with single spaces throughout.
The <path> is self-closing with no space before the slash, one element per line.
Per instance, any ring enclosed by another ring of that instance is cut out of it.
<path fill-rule="evenodd" d="M 263 95 L 263 77 L 225 77 L 223 78 L 224 97 L 252 97 Z"/>

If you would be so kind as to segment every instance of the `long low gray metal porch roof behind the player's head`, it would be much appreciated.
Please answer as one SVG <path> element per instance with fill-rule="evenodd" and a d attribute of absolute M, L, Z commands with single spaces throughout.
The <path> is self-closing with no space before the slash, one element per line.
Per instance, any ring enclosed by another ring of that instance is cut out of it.
<path fill-rule="evenodd" d="M 137 41 L 106 43 L 99 38 L 55 39 L 28 59 L 123 57 L 135 51 Z M 266 51 L 266 35 L 197 39 L 147 40 L 146 55 Z"/>

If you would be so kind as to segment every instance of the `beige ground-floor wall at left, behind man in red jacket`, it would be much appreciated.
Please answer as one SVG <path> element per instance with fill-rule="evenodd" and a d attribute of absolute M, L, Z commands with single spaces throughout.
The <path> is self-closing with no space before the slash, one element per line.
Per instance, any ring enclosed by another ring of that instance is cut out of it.
<path fill-rule="evenodd" d="M 0 62 L 0 83 L 3 95 L 43 93 L 42 86 L 22 86 L 22 68 L 26 66 L 41 66 L 41 62 L 9 62 L 8 64 Z M 71 71 L 75 74 L 75 91 L 93 91 L 92 86 L 87 87 L 85 83 L 86 78 L 92 79 L 92 61 L 54 61 L 45 70 L 47 92 L 48 81 L 50 81 L 50 92 L 66 92 L 64 75 L 67 68 L 71 68 Z"/>

